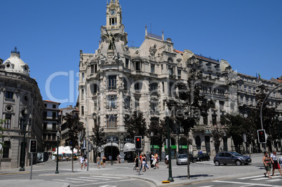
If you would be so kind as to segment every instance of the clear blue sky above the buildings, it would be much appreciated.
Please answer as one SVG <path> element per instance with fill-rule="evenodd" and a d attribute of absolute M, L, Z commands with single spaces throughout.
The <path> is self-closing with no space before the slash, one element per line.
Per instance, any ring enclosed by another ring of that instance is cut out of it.
<path fill-rule="evenodd" d="M 62 102 L 61 108 L 75 105 L 79 51 L 98 49 L 106 4 L 107 0 L 1 1 L 0 58 L 8 59 L 17 46 L 43 99 Z M 265 79 L 282 75 L 282 1 L 120 0 L 120 4 L 128 46 L 142 44 L 147 25 L 154 34 L 163 30 L 177 50 L 227 60 L 234 70 L 251 76 L 256 71 Z"/>

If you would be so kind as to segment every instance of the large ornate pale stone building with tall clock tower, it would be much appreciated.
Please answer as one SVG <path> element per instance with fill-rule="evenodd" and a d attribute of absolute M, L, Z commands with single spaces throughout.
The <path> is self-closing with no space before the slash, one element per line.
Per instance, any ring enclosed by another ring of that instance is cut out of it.
<path fill-rule="evenodd" d="M 141 111 L 147 125 L 152 120 L 163 120 L 166 99 L 175 97 L 173 87 L 177 81 L 187 82 L 191 76 L 191 66 L 200 65 L 201 94 L 215 105 L 208 116 L 201 116 L 189 137 L 173 134 L 171 138 L 172 155 L 187 152 L 187 141 L 192 140 L 189 151 L 199 150 L 215 154 L 211 130 L 217 125 L 220 116 L 226 113 L 243 113 L 241 106 L 255 106 L 253 90 L 260 83 L 275 88 L 279 83 L 262 80 L 254 76 L 233 71 L 226 60 L 214 60 L 196 55 L 191 50 L 175 50 L 171 39 L 147 32 L 139 48 L 127 46 L 128 34 L 122 24 L 119 1 L 110 0 L 107 4 L 106 25 L 101 27 L 101 41 L 95 53 L 80 51 L 79 61 L 79 111 L 86 119 L 88 129 L 97 124 L 104 128 L 107 142 L 102 154 L 108 157 L 109 147 L 113 145 L 113 157 L 120 154 L 130 158 L 133 151 L 133 137 L 128 136 L 126 120 L 132 111 Z M 245 92 L 246 90 L 246 92 Z M 276 91 L 274 102 L 281 108 L 281 90 Z M 113 141 L 111 141 L 111 139 Z M 144 151 L 150 151 L 150 142 L 145 137 Z M 154 143 L 153 143 L 154 144 Z M 231 139 L 224 138 L 222 149 L 231 150 Z M 131 149 L 130 149 L 131 148 Z M 154 150 L 158 151 L 158 150 Z M 165 153 L 163 150 L 162 155 Z M 129 156 L 128 156 L 129 155 Z"/>

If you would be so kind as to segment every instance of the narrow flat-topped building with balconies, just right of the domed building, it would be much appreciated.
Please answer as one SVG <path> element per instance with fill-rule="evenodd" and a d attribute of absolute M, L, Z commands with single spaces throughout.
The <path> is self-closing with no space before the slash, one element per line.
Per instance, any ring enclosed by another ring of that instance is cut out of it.
<path fill-rule="evenodd" d="M 45 109 L 43 110 L 43 141 L 44 151 L 51 153 L 57 147 L 58 127 L 60 124 L 59 119 L 59 106 L 58 102 L 51 102 L 48 100 L 43 101 Z"/>

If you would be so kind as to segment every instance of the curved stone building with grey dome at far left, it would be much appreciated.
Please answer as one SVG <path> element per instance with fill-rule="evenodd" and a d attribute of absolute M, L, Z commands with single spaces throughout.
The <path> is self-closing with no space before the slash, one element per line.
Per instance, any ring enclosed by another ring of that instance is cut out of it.
<path fill-rule="evenodd" d="M 5 130 L 1 139 L 4 143 L 1 169 L 20 167 L 25 124 L 26 150 L 29 150 L 29 139 L 37 139 L 37 150 L 43 152 L 43 109 L 38 85 L 29 77 L 29 66 L 20 59 L 20 52 L 15 48 L 11 57 L 0 63 L 0 114 L 1 119 L 6 120 L 2 124 Z M 25 166 L 30 162 L 31 154 L 25 151 Z"/>

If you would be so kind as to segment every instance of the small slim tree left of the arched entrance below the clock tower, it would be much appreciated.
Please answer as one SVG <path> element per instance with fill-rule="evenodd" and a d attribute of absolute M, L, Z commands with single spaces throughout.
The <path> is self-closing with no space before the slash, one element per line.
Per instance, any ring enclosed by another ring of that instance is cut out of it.
<path fill-rule="evenodd" d="M 94 151 L 98 154 L 98 148 L 105 144 L 105 132 L 104 128 L 100 127 L 100 125 L 95 125 L 92 129 L 93 134 L 91 134 L 90 139 L 93 141 Z"/>

